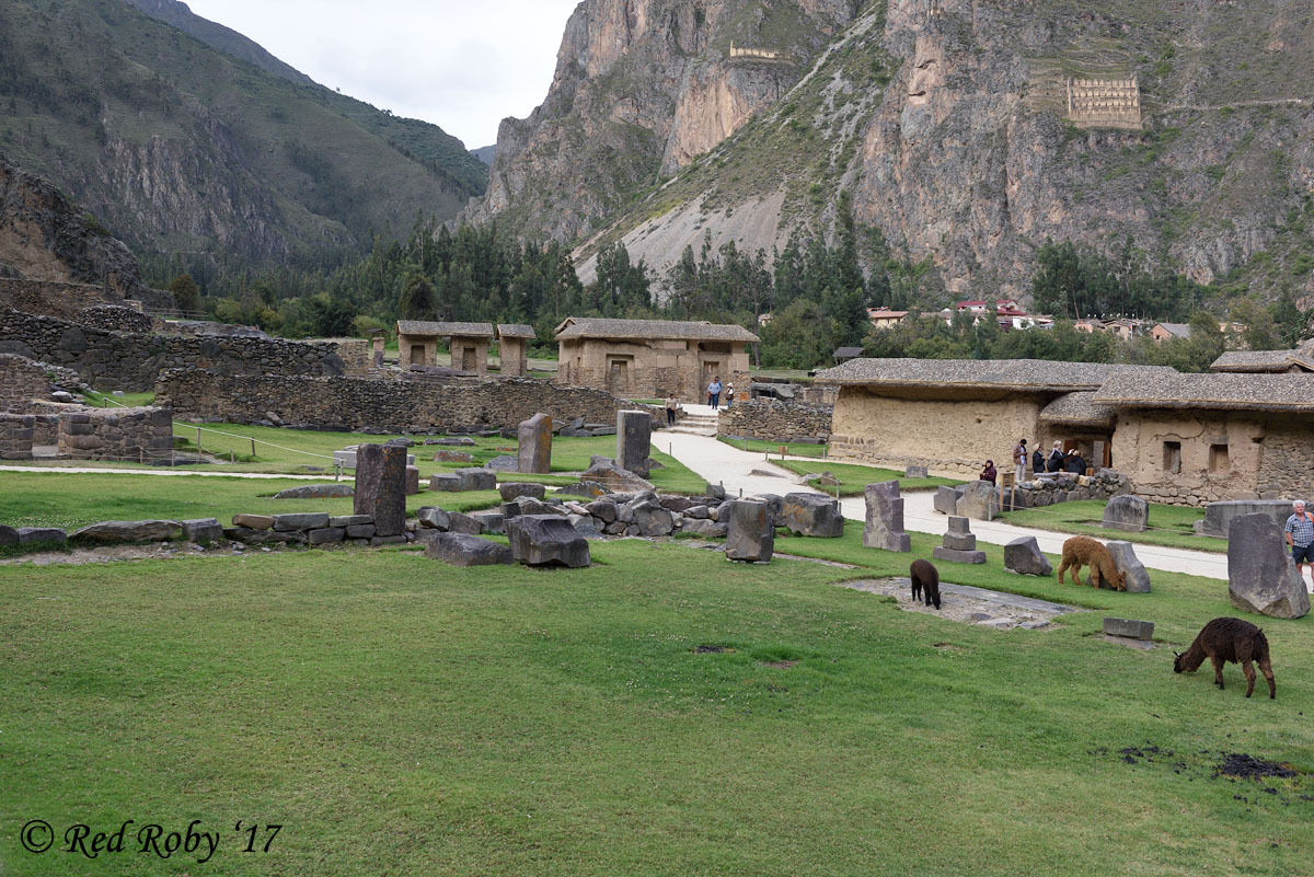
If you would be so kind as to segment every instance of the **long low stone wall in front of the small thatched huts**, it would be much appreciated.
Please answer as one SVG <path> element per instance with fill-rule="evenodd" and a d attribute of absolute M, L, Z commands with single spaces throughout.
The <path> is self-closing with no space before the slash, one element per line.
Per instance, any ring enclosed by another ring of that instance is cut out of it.
<path fill-rule="evenodd" d="M 453 427 L 514 428 L 537 412 L 553 423 L 583 417 L 615 423 L 620 410 L 665 411 L 600 390 L 548 381 L 365 381 L 359 378 L 235 377 L 180 369 L 160 375 L 158 404 L 187 420 L 288 425 L 307 429 L 445 432 Z"/>

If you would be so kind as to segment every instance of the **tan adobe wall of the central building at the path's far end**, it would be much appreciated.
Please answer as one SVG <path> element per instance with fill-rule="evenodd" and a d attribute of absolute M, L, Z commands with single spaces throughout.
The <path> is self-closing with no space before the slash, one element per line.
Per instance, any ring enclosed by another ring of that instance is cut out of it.
<path fill-rule="evenodd" d="M 674 395 L 681 402 L 706 403 L 704 362 L 717 362 L 721 383 L 735 383 L 744 394 L 750 382 L 746 345 L 724 345 L 723 351 L 699 351 L 698 341 L 657 339 L 653 341 L 608 341 L 581 339 L 562 341 L 557 361 L 560 386 L 594 387 L 637 399 L 665 399 Z M 624 386 L 612 386 L 611 362 L 623 361 Z"/>

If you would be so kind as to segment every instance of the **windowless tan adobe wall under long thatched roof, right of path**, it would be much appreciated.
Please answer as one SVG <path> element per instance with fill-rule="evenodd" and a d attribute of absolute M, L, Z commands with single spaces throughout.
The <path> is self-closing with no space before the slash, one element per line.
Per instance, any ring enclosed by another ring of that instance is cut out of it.
<path fill-rule="evenodd" d="M 1037 435 L 1038 395 L 988 400 L 896 399 L 842 386 L 834 406 L 829 457 L 936 474 L 980 474 L 987 460 L 1007 470 L 1017 440 Z"/>

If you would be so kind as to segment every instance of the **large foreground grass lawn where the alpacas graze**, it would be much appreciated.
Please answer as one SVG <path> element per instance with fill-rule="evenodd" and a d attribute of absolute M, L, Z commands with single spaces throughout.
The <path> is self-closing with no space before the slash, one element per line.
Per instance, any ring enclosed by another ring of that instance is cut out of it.
<path fill-rule="evenodd" d="M 907 570 L 859 529 L 778 542 L 858 572 L 641 541 L 594 544 L 577 571 L 355 549 L 0 567 L 0 861 L 13 876 L 1309 873 L 1314 683 L 1298 667 L 1314 621 L 1265 620 L 1280 693 L 1246 700 L 1235 666 L 1219 692 L 1208 670 L 1173 675 L 1167 649 L 1095 635 L 1120 614 L 1185 643 L 1234 612 L 1218 582 L 1059 587 L 1004 574 L 992 547 L 986 567 L 941 565 L 1100 609 L 989 630 L 836 587 Z M 934 542 L 913 534 L 913 557 Z M 1301 776 L 1214 776 L 1225 752 Z M 59 838 L 198 819 L 221 842 L 204 865 L 38 856 L 17 843 L 34 818 Z M 242 853 L 238 819 L 284 827 Z"/>

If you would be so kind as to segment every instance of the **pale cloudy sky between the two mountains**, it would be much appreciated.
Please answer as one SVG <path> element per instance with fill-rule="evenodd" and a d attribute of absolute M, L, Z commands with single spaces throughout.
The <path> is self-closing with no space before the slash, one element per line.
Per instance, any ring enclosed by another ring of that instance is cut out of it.
<path fill-rule="evenodd" d="M 579 0 L 187 0 L 317 83 L 490 146 L 552 84 Z"/>

